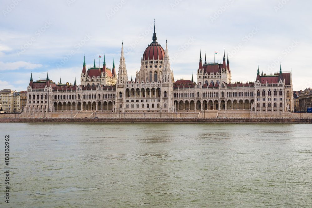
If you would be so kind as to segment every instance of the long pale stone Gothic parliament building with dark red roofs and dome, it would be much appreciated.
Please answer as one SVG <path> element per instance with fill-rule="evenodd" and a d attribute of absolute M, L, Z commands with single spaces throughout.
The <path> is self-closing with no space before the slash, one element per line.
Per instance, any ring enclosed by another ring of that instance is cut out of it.
<path fill-rule="evenodd" d="M 256 72 L 256 70 L 255 70 Z M 25 113 L 112 112 L 112 113 L 172 113 L 250 111 L 258 113 L 292 112 L 291 72 L 261 74 L 246 83 L 232 82 L 229 59 L 223 53 L 223 63 L 207 63 L 200 52 L 197 83 L 193 80 L 174 81 L 169 51 L 157 42 L 154 27 L 152 42 L 141 58 L 135 79 L 128 80 L 123 46 L 118 71 L 115 60 L 112 69 L 87 68 L 83 62 L 80 85 L 55 83 L 46 79 L 33 81 L 27 88 Z"/>

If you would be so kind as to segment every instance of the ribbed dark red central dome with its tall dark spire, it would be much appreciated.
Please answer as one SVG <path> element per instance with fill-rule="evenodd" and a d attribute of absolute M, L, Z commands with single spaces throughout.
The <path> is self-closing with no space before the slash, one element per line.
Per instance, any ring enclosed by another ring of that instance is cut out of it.
<path fill-rule="evenodd" d="M 154 25 L 154 35 L 153 35 L 153 42 L 149 44 L 149 46 L 145 49 L 143 54 L 143 60 L 162 60 L 165 56 L 165 50 L 163 47 L 157 42 L 157 36 L 155 32 L 155 25 Z"/>

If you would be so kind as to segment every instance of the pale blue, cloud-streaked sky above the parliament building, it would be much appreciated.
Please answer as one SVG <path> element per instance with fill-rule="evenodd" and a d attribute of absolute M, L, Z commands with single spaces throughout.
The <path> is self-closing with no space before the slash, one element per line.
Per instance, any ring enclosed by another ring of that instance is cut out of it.
<path fill-rule="evenodd" d="M 0 89 L 26 90 L 33 80 L 80 84 L 86 65 L 119 65 L 123 42 L 128 79 L 157 41 L 174 79 L 197 81 L 200 51 L 207 62 L 229 53 L 232 81 L 292 72 L 293 89 L 312 87 L 312 1 L 309 0 L 2 0 Z"/>

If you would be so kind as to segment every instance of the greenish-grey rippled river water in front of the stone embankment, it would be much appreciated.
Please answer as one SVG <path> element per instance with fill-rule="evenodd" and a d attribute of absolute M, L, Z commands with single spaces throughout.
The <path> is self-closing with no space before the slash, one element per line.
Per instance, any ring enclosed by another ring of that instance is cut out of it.
<path fill-rule="evenodd" d="M 0 205 L 311 207 L 311 127 L 1 123 Z"/>

